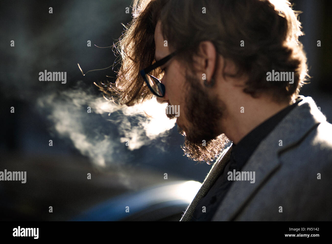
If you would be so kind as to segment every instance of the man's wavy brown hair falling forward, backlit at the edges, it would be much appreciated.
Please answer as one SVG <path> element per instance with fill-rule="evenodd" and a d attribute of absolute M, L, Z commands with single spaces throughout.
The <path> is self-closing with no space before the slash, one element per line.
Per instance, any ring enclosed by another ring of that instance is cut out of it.
<path fill-rule="evenodd" d="M 236 75 L 248 75 L 243 92 L 253 97 L 268 92 L 276 102 L 290 101 L 309 77 L 298 41 L 303 35 L 299 13 L 283 0 L 134 0 L 133 20 L 114 45 L 122 59 L 116 82 L 99 87 L 127 106 L 152 97 L 139 72 L 155 62 L 154 31 L 160 19 L 171 50 L 190 43 L 191 48 L 174 57 L 187 67 L 192 67 L 198 44 L 208 40 L 235 63 Z M 294 72 L 294 83 L 268 82 L 266 73 L 272 70 Z M 158 68 L 151 74 L 163 75 Z"/>

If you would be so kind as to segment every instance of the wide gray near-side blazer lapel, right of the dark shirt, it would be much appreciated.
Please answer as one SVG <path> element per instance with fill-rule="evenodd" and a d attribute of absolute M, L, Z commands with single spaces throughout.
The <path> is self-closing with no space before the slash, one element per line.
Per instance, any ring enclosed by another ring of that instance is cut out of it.
<path fill-rule="evenodd" d="M 255 172 L 255 183 L 235 181 L 219 205 L 212 221 L 234 220 L 259 188 L 281 166 L 279 155 L 296 145 L 321 121 L 326 121 L 310 97 L 302 97 L 290 113 L 258 145 L 241 171 Z M 283 146 L 279 146 L 279 140 Z"/>

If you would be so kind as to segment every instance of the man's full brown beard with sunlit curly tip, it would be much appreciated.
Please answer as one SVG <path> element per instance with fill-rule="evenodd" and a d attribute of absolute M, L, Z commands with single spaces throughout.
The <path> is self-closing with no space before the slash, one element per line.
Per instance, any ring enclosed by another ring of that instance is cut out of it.
<path fill-rule="evenodd" d="M 211 98 L 200 84 L 200 80 L 186 73 L 185 117 L 191 123 L 190 128 L 178 126 L 178 132 L 185 136 L 181 146 L 185 155 L 194 161 L 207 164 L 217 158 L 225 149 L 229 139 L 218 129 L 219 121 L 224 117 L 225 105 L 217 97 Z M 168 118 L 175 116 L 168 114 Z"/>

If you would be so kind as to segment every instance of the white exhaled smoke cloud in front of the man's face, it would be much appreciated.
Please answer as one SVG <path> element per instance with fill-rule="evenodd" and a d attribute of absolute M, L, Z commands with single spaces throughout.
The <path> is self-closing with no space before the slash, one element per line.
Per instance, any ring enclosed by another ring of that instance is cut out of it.
<path fill-rule="evenodd" d="M 175 124 L 175 119 L 166 117 L 167 104 L 158 104 L 156 99 L 127 107 L 91 94 L 74 88 L 44 95 L 37 105 L 48 114 L 58 134 L 70 138 L 98 166 L 106 166 L 113 159 L 122 160 L 119 155 L 125 151 L 121 150 L 148 145 L 166 135 Z"/>

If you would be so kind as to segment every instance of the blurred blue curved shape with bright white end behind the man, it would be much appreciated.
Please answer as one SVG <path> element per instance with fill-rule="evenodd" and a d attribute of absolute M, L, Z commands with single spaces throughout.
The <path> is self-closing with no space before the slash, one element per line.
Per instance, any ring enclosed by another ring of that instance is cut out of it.
<path fill-rule="evenodd" d="M 201 186 L 197 181 L 172 181 L 126 193 L 93 206 L 71 221 L 156 221 L 184 211 Z"/>

